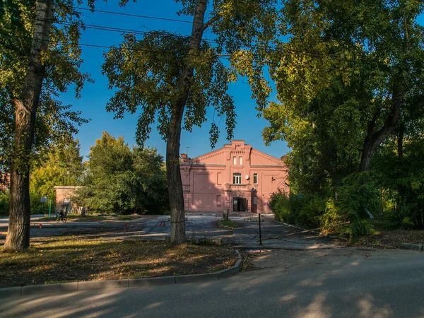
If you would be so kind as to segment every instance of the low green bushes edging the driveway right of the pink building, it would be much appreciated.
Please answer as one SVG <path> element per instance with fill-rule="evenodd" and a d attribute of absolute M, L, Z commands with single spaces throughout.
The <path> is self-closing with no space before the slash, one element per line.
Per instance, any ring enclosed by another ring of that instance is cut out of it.
<path fill-rule="evenodd" d="M 298 225 L 303 228 L 321 228 L 346 221 L 350 225 L 326 228 L 324 234 L 338 233 L 351 242 L 361 235 L 373 232 L 367 222 L 370 213 L 379 211 L 380 197 L 377 188 L 370 182 L 367 173 L 354 173 L 343 179 L 340 187 L 333 189 L 329 196 L 302 196 L 281 192 L 271 195 L 270 208 L 276 220 Z M 401 218 L 401 222 L 404 218 Z M 405 224 L 408 220 L 405 220 Z"/>

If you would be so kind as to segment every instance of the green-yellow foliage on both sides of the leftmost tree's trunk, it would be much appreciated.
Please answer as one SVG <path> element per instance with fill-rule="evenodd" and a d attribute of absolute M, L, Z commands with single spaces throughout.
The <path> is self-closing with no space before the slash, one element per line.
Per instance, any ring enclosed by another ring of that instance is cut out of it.
<path fill-rule="evenodd" d="M 0 170 L 9 171 L 13 154 L 14 105 L 25 82 L 28 54 L 33 38 L 35 1 L 3 1 L 0 7 Z M 81 4 L 81 1 L 78 1 Z M 43 52 L 45 78 L 42 83 L 33 157 L 47 152 L 51 143 L 67 139 L 78 131 L 78 126 L 88 122 L 81 112 L 64 105 L 59 94 L 69 86 L 79 97 L 88 74 L 78 71 L 82 64 L 79 37 L 82 27 L 81 13 L 73 1 L 61 0 L 54 6 L 54 25 L 50 33 L 47 52 Z"/>

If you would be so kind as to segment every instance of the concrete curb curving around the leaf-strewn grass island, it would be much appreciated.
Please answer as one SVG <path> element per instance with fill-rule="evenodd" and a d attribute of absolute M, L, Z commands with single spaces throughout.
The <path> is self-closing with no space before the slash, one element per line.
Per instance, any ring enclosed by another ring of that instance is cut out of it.
<path fill-rule="evenodd" d="M 114 281 L 78 281 L 72 283 L 58 283 L 47 285 L 25 285 L 18 287 L 0 288 L 0 298 L 37 295 L 43 293 L 60 293 L 76 290 L 93 290 L 106 288 L 126 288 L 139 286 L 155 286 L 176 283 L 192 283 L 197 281 L 216 281 L 220 278 L 227 278 L 235 275 L 242 269 L 242 255 L 235 249 L 237 261 L 228 269 L 217 271 L 216 273 L 201 273 L 182 276 L 164 276 L 153 278 L 119 279 Z"/>

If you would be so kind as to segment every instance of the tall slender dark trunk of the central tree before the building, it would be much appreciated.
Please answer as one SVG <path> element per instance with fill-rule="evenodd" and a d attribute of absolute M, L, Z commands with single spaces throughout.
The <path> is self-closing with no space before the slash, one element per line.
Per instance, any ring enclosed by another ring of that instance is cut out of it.
<path fill-rule="evenodd" d="M 182 194 L 181 172 L 179 170 L 179 141 L 181 139 L 181 124 L 184 108 L 189 97 L 190 81 L 194 74 L 191 59 L 199 51 L 204 33 L 204 16 L 208 0 L 198 0 L 194 13 L 192 37 L 189 42 L 189 52 L 179 80 L 177 99 L 172 108 L 170 124 L 167 131 L 166 173 L 170 197 L 171 242 L 183 243 L 185 236 L 184 197 Z"/>

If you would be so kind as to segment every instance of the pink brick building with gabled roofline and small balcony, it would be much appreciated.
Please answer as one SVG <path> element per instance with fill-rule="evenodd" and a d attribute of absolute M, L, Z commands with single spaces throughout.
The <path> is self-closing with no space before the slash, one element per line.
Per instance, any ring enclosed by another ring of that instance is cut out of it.
<path fill-rule="evenodd" d="M 242 140 L 232 140 L 196 158 L 181 155 L 181 178 L 188 212 L 270 213 L 269 197 L 288 193 L 287 166 Z"/>

